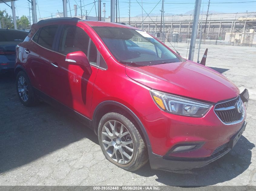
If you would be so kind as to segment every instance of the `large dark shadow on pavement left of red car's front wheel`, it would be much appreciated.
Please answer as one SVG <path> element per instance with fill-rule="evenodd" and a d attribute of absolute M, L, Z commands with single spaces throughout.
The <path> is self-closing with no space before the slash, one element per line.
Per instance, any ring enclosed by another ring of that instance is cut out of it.
<path fill-rule="evenodd" d="M 88 138 L 89 128 L 46 103 L 24 107 L 13 76 L 0 77 L 0 173 L 34 161 L 72 142 Z"/>

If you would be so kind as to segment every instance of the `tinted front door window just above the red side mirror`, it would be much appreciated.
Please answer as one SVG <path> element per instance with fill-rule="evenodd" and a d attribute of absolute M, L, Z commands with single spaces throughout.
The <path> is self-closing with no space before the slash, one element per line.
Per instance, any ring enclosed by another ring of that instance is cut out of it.
<path fill-rule="evenodd" d="M 82 51 L 87 56 L 88 43 L 89 36 L 84 30 L 76 26 L 65 25 L 61 33 L 58 51 L 63 54 Z"/>

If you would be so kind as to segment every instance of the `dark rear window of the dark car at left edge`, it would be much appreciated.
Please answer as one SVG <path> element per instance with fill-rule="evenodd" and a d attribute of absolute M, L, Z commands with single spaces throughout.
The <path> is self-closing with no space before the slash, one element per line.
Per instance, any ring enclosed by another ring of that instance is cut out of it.
<path fill-rule="evenodd" d="M 0 42 L 23 41 L 27 32 L 18 30 L 0 30 Z"/>

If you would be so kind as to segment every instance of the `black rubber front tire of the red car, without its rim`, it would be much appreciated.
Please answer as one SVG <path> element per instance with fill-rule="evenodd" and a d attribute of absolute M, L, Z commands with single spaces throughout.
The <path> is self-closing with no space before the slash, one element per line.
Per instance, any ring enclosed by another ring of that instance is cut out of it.
<path fill-rule="evenodd" d="M 121 113 L 121 112 L 120 112 Z M 98 126 L 98 139 L 99 143 L 101 146 L 101 150 L 103 154 L 105 155 L 106 159 L 110 161 L 111 163 L 117 165 L 118 167 L 121 167 L 122 169 L 129 170 L 129 171 L 135 171 L 141 168 L 143 165 L 145 165 L 148 161 L 148 151 L 146 148 L 145 141 L 143 140 L 141 133 L 138 131 L 138 129 L 135 127 L 135 125 L 127 118 L 125 117 L 125 113 L 120 114 L 120 113 L 107 113 L 105 114 Z M 122 123 L 126 129 L 129 131 L 131 138 L 133 140 L 133 148 L 134 148 L 134 153 L 132 158 L 130 159 L 131 161 L 128 164 L 120 164 L 116 161 L 114 161 L 105 151 L 105 148 L 103 146 L 102 142 L 102 128 L 104 124 L 110 120 L 116 120 L 120 123 Z"/>

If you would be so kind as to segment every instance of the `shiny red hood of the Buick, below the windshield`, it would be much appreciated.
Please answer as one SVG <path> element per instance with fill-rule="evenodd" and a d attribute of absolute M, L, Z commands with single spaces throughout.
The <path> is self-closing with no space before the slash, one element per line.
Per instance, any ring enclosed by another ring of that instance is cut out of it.
<path fill-rule="evenodd" d="M 218 102 L 237 97 L 228 78 L 201 64 L 185 61 L 125 68 L 126 75 L 149 88 L 198 100 Z"/>

